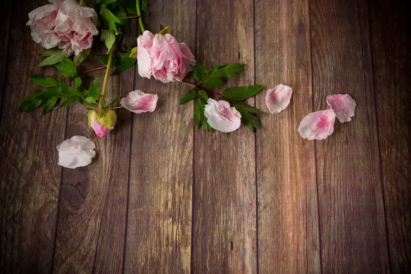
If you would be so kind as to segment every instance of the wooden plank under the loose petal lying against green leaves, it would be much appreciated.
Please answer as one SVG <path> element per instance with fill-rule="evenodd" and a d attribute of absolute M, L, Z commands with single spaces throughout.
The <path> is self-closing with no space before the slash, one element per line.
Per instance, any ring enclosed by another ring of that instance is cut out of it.
<path fill-rule="evenodd" d="M 197 1 L 197 60 L 246 64 L 226 87 L 254 84 L 253 32 L 253 1 Z M 257 272 L 254 147 L 247 127 L 229 136 L 195 130 L 193 273 Z"/>

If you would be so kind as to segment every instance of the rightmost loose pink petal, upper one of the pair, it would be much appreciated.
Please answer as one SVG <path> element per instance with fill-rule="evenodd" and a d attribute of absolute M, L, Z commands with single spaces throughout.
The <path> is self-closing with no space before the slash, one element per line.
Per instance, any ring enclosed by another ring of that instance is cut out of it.
<path fill-rule="evenodd" d="M 351 117 L 355 115 L 357 103 L 351 95 L 330 95 L 327 97 L 327 104 L 336 112 L 341 123 L 351 121 Z"/>

